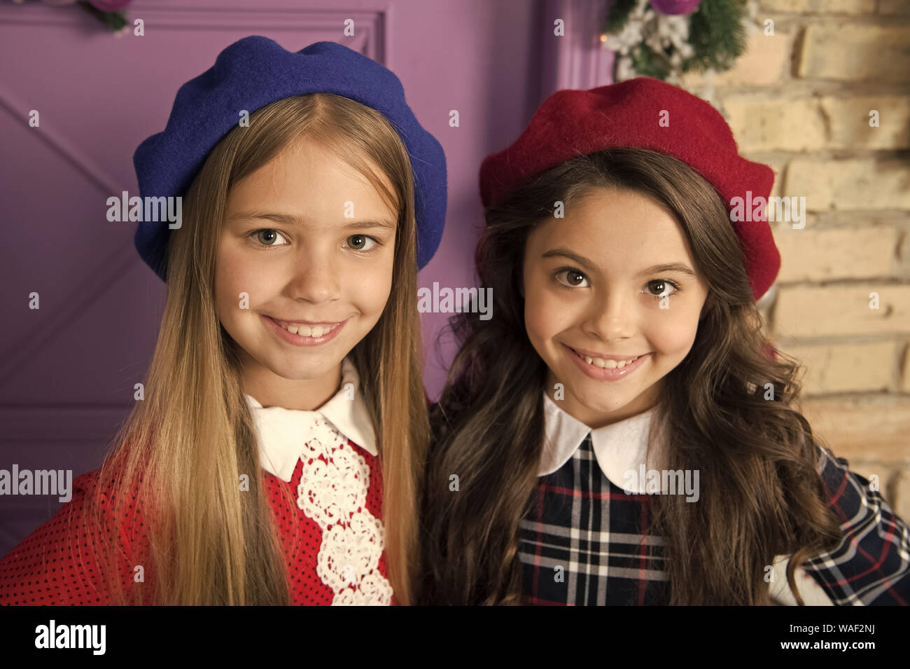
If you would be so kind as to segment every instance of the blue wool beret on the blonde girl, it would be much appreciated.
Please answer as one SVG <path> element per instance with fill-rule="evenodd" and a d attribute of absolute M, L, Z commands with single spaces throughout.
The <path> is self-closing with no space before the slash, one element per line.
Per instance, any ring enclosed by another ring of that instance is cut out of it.
<path fill-rule="evenodd" d="M 414 175 L 417 264 L 422 269 L 440 244 L 446 216 L 446 157 L 404 98 L 399 78 L 347 46 L 317 42 L 291 53 L 268 37 L 244 37 L 222 51 L 201 75 L 180 86 L 164 132 L 136 148 L 133 164 L 142 198 L 183 197 L 208 152 L 238 126 L 242 109 L 285 97 L 331 93 L 376 109 L 408 149 Z M 143 221 L 136 250 L 167 280 L 167 220 Z"/>

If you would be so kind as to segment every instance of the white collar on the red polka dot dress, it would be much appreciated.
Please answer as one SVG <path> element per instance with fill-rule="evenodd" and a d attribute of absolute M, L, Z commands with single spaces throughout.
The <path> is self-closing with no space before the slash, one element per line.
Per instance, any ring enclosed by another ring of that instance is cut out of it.
<path fill-rule="evenodd" d="M 282 481 L 290 481 L 307 435 L 314 429 L 313 421 L 319 416 L 329 421 L 343 437 L 371 455 L 377 455 L 376 435 L 359 383 L 354 363 L 345 358 L 341 361 L 339 391 L 315 411 L 263 407 L 256 398 L 244 393 L 258 433 L 262 468 Z"/>

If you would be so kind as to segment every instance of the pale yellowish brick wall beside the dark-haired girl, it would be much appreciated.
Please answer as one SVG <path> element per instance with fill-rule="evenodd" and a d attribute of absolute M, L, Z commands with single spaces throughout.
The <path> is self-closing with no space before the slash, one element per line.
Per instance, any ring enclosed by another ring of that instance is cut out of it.
<path fill-rule="evenodd" d="M 804 228 L 772 224 L 783 266 L 760 306 L 805 366 L 814 431 L 910 519 L 910 2 L 758 7 L 736 68 L 682 85 L 774 168 L 773 195 L 805 198 Z"/>

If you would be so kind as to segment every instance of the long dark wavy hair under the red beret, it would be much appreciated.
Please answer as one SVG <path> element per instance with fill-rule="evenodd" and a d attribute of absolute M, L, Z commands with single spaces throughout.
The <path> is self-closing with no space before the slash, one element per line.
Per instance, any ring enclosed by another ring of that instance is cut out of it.
<path fill-rule="evenodd" d="M 547 371 L 524 325 L 525 241 L 555 202 L 570 207 L 591 188 L 636 191 L 672 212 L 709 286 L 711 308 L 665 377 L 652 430 L 670 435 L 666 466 L 699 470 L 702 481 L 697 503 L 649 500 L 669 603 L 769 604 L 765 567 L 783 554 L 803 604 L 795 568 L 843 536 L 816 470 L 816 438 L 796 406 L 800 365 L 763 334 L 720 196 L 676 158 L 635 148 L 574 157 L 485 212 L 475 260 L 495 317 L 450 319 L 460 351 L 430 411 L 420 603 L 522 603 L 518 531 L 537 483 Z M 768 383 L 773 400 L 764 399 Z"/>

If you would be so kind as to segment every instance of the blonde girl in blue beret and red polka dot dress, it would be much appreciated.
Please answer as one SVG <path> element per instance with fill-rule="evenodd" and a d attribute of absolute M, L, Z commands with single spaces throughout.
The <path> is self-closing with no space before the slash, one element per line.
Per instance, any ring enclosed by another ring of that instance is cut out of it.
<path fill-rule="evenodd" d="M 369 58 L 252 36 L 135 162 L 146 210 L 184 198 L 136 233 L 167 279 L 144 399 L 0 603 L 410 603 L 439 144 Z"/>

